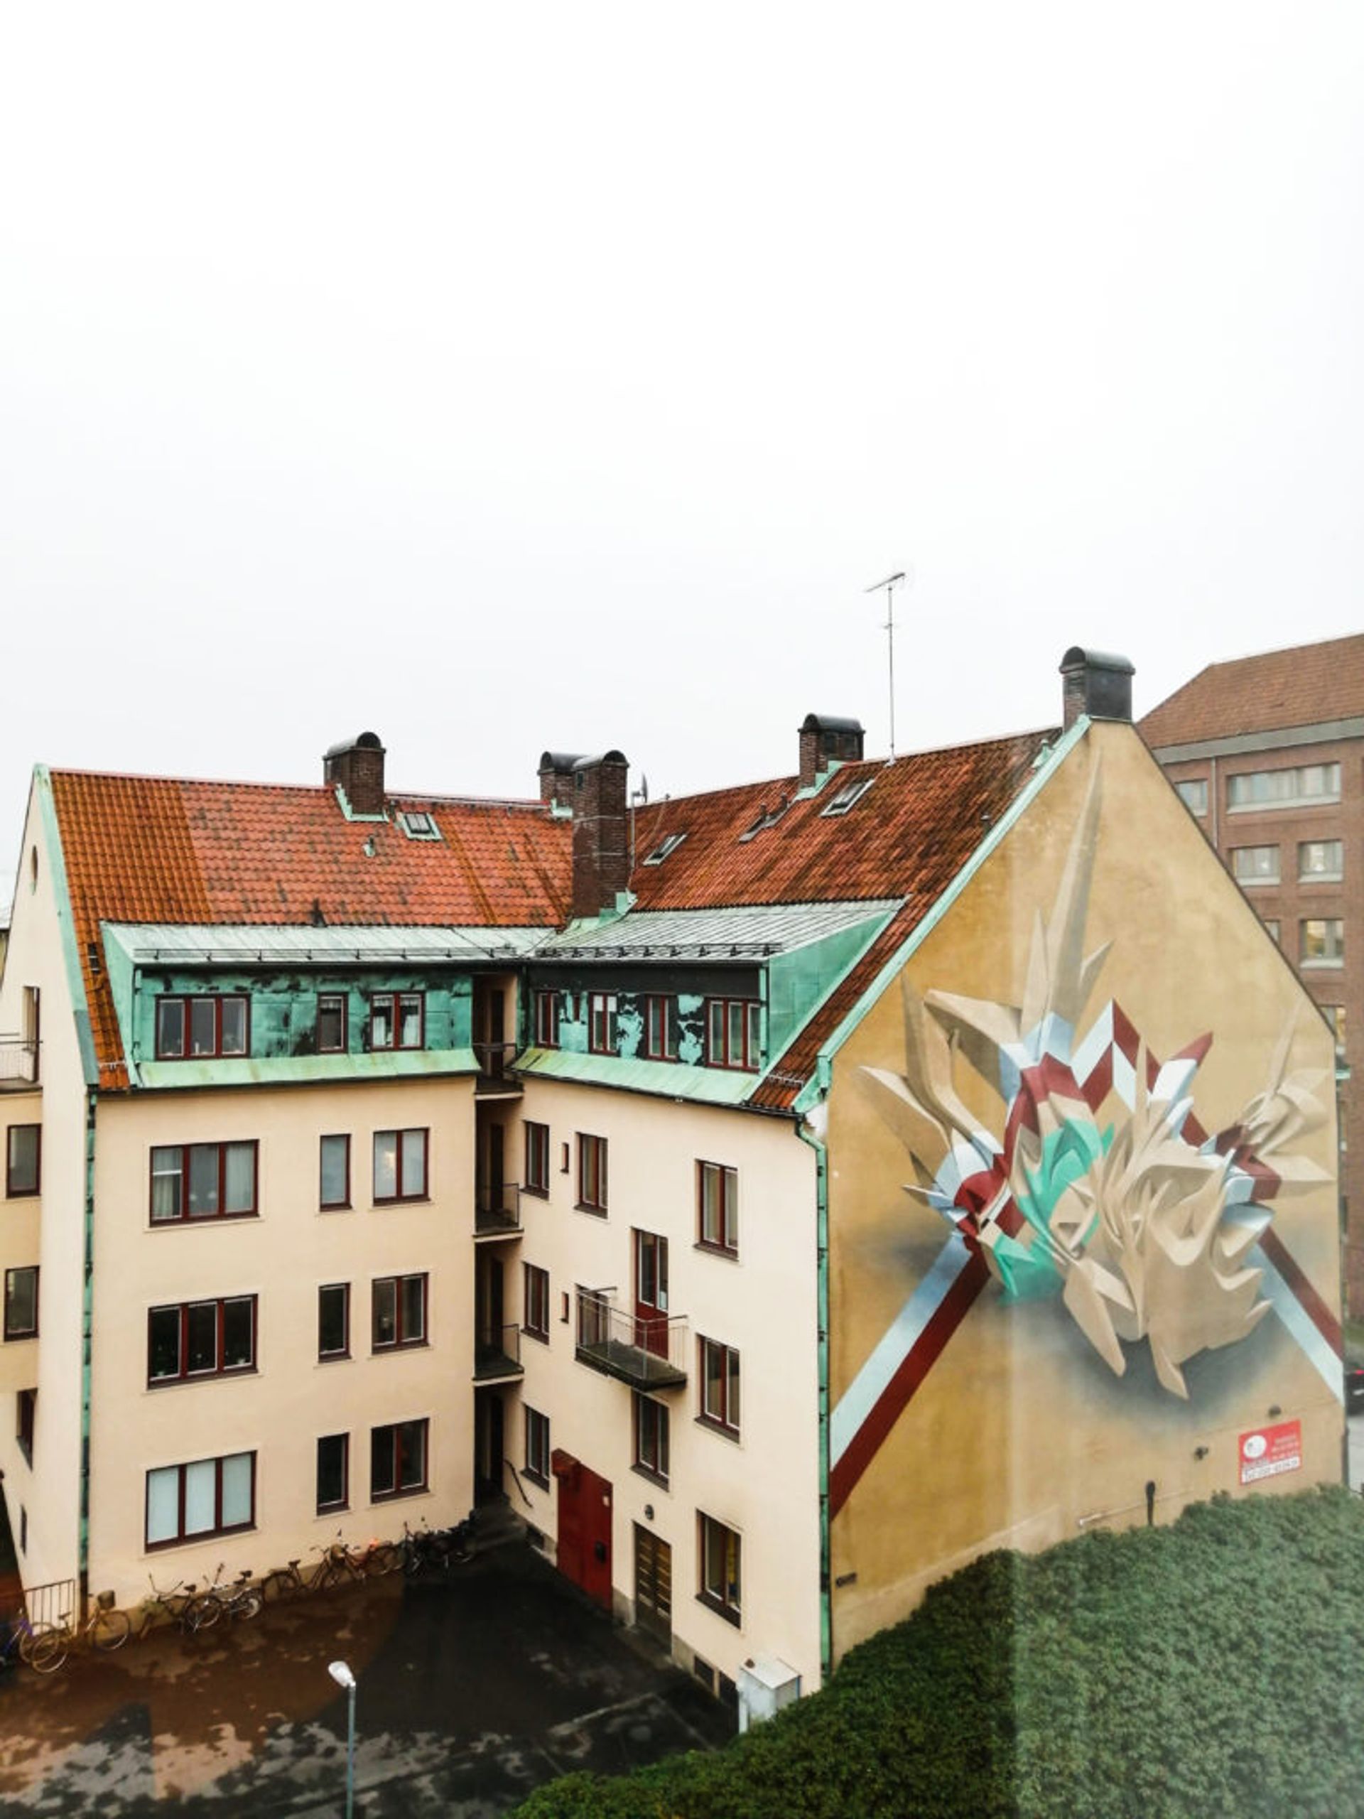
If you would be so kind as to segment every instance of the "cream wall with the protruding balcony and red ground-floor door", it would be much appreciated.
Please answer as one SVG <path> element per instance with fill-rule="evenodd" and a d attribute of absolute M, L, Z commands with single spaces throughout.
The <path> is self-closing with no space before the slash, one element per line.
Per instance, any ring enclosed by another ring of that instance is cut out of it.
<path fill-rule="evenodd" d="M 549 1126 L 549 1199 L 524 1199 L 524 1239 L 509 1248 L 507 1310 L 520 1311 L 520 1262 L 549 1271 L 549 1344 L 522 1339 L 526 1377 L 509 1399 L 507 1453 L 524 1457 L 522 1410 L 549 1417 L 564 1448 L 613 1484 L 611 1577 L 617 1608 L 635 1597 L 635 1524 L 673 1550 L 677 1652 L 702 1655 L 735 1677 L 757 1653 L 775 1653 L 818 1684 L 818 1361 L 815 1159 L 784 1119 L 675 1104 L 635 1093 L 527 1082 L 509 1133 L 509 1173 L 520 1173 L 526 1119 Z M 609 1213 L 575 1210 L 578 1131 L 607 1139 Z M 569 1144 L 569 1173 L 560 1173 Z M 515 1159 L 515 1168 L 513 1168 Z M 697 1162 L 738 1170 L 738 1259 L 697 1250 Z M 671 1410 L 667 1488 L 633 1470 L 631 1392 L 573 1357 L 575 1315 L 562 1293 L 617 1288 L 631 1297 L 631 1231 L 667 1237 L 669 1311 L 686 1315 L 687 1384 L 658 1401 Z M 697 1421 L 697 1337 L 740 1352 L 742 1435 Z M 557 1490 L 527 1486 L 529 1523 L 555 1535 Z M 653 1519 L 644 1515 L 653 1506 Z M 697 1601 L 697 1512 L 742 1537 L 742 1626 Z"/>

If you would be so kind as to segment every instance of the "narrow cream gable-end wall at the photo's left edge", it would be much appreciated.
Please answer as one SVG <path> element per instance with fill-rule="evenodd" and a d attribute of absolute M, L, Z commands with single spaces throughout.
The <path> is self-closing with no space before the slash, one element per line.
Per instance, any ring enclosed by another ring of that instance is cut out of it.
<path fill-rule="evenodd" d="M 40 1091 L 0 1093 L 2 1124 L 42 1122 L 42 1197 L 0 1199 L 0 1270 L 40 1266 L 38 1339 L 0 1342 L 0 1468 L 16 1546 L 27 1515 L 27 1548 L 18 1564 L 29 1586 L 75 1579 L 78 1570 L 85 1086 L 53 875 L 35 786 L 0 984 L 0 1030 L 5 1033 L 22 1028 L 24 986 L 42 993 Z M 15 1439 L 15 1393 L 38 1384 L 29 1466 Z"/>

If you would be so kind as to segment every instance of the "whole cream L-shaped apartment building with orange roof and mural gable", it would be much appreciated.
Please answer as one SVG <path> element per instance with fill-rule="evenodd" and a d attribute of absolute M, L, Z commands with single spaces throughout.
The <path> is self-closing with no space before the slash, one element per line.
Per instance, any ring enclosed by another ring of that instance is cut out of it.
<path fill-rule="evenodd" d="M 1071 651 L 1064 728 L 893 764 L 811 715 L 793 775 L 637 815 L 615 751 L 535 802 L 395 795 L 375 735 L 313 788 L 35 773 L 25 1586 L 498 1502 L 757 1715 L 973 1552 L 1249 1488 L 1268 1408 L 1271 1488 L 1339 1475 L 1329 1031 L 1128 678 Z M 1100 1262 L 1077 1211 L 1153 1106 L 1217 1211 L 1169 1302 L 1162 1230 Z"/>

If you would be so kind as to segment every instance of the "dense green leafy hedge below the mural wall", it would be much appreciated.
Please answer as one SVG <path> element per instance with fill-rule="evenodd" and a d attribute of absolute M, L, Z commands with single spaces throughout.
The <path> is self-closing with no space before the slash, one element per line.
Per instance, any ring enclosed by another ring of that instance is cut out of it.
<path fill-rule="evenodd" d="M 1364 1815 L 1364 1502 L 1228 1497 L 989 1553 L 717 1754 L 518 1819 Z"/>

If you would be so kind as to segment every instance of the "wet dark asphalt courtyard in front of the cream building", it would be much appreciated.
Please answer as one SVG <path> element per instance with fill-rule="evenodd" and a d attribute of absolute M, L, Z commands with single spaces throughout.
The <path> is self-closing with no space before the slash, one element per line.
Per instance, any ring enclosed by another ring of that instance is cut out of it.
<path fill-rule="evenodd" d="M 333 1819 L 358 1681 L 356 1815 L 491 1819 L 575 1768 L 713 1748 L 731 1719 L 524 1544 L 195 1637 L 0 1677 L 0 1814 Z"/>

